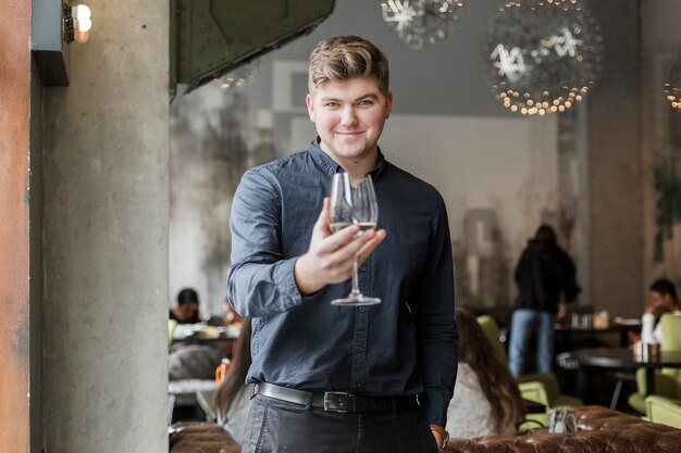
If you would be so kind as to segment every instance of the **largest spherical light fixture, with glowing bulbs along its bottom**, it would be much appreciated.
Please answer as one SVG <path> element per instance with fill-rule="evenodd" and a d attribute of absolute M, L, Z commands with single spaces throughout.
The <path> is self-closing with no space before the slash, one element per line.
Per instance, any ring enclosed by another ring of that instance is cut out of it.
<path fill-rule="evenodd" d="M 483 78 L 503 105 L 546 115 L 592 89 L 603 38 L 578 0 L 511 1 L 490 21 L 483 51 Z"/>

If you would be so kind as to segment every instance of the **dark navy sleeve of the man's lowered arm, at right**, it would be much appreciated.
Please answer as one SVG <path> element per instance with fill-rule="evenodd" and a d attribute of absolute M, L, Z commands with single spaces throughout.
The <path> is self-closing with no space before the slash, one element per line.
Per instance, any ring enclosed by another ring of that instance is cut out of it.
<path fill-rule="evenodd" d="M 454 264 L 444 201 L 437 196 L 425 267 L 414 293 L 417 357 L 423 378 L 419 400 L 429 424 L 446 426 L 447 407 L 457 375 L 457 331 L 454 320 Z"/>

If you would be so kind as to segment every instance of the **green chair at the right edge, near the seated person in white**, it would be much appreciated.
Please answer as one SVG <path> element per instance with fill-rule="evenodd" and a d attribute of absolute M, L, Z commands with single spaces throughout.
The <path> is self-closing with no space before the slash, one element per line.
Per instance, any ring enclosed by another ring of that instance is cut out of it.
<path fill-rule="evenodd" d="M 681 316 L 666 313 L 661 316 L 663 351 L 681 351 Z M 655 373 L 655 393 L 659 397 L 681 399 L 681 370 L 663 368 Z M 636 370 L 636 392 L 629 397 L 629 405 L 642 414 L 646 413 L 645 369 Z"/>

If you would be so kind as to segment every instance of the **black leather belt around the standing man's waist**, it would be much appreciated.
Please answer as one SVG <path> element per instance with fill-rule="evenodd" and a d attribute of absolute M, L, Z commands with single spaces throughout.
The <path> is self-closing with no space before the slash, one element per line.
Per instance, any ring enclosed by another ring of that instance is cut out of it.
<path fill-rule="evenodd" d="M 258 382 L 253 393 L 275 400 L 344 414 L 394 414 L 416 411 L 416 397 L 362 397 L 344 392 L 312 393 L 288 387 Z"/>

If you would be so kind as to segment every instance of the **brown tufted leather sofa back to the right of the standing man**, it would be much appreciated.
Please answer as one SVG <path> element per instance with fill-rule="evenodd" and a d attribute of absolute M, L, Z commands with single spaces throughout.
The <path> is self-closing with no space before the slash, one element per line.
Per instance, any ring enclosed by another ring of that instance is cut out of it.
<path fill-rule="evenodd" d="M 578 431 L 453 439 L 449 453 L 671 453 L 681 452 L 681 430 L 600 406 L 574 407 Z"/>

